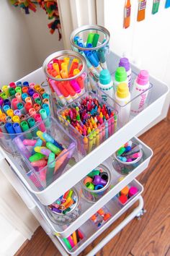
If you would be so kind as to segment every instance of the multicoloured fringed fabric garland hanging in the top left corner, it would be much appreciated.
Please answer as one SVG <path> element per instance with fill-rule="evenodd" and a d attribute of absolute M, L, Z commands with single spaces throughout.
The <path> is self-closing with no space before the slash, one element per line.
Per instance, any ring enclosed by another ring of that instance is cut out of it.
<path fill-rule="evenodd" d="M 48 15 L 48 20 L 53 20 L 48 24 L 48 27 L 50 28 L 50 33 L 53 34 L 55 30 L 58 30 L 59 40 L 61 40 L 61 22 L 58 14 L 57 0 L 10 0 L 10 2 L 14 7 L 20 7 L 24 9 L 25 14 L 30 14 L 30 10 L 32 12 L 36 12 L 36 4 L 39 4 L 40 7 L 44 9 L 46 14 Z"/>

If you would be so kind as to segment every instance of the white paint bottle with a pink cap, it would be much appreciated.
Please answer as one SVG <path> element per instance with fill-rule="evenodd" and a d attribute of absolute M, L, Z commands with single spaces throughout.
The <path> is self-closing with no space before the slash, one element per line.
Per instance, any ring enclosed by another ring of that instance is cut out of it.
<path fill-rule="evenodd" d="M 150 83 L 148 71 L 140 70 L 140 73 L 138 74 L 138 77 L 135 79 L 135 82 L 133 84 L 133 90 L 131 93 L 131 113 L 133 115 L 140 113 L 140 111 L 143 111 L 143 109 L 145 108 L 145 103 L 149 91 L 147 89 L 149 88 L 149 85 Z"/>

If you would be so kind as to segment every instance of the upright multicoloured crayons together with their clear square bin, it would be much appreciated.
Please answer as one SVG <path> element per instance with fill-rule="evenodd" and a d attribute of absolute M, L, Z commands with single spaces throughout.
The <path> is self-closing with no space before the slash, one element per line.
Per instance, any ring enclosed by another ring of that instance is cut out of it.
<path fill-rule="evenodd" d="M 76 139 L 81 155 L 90 153 L 117 131 L 117 111 L 92 92 L 59 110 L 58 119 Z"/>

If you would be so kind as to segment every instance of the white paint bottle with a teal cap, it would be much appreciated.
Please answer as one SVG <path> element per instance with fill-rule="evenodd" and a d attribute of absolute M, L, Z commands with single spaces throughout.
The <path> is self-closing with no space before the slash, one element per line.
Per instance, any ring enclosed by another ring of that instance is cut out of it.
<path fill-rule="evenodd" d="M 99 95 L 109 105 L 113 105 L 113 82 L 108 69 L 103 69 L 99 74 Z M 104 93 L 102 93 L 104 92 Z M 107 95 L 110 97 L 107 97 Z"/>

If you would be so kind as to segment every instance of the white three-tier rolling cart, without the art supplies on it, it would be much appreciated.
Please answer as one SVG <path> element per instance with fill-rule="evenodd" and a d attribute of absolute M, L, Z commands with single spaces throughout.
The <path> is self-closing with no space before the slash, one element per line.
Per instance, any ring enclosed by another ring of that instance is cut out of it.
<path fill-rule="evenodd" d="M 108 62 L 111 72 L 114 72 L 114 67 L 117 67 L 119 59 L 120 57 L 116 54 L 110 54 Z M 139 72 L 137 67 L 133 65 L 131 67 L 134 73 Z M 24 80 L 41 84 L 45 81 L 45 74 L 43 73 L 42 68 L 40 68 L 21 79 L 21 81 Z M 34 214 L 35 218 L 37 218 L 37 221 L 39 221 L 42 228 L 48 236 L 50 236 L 50 239 L 61 252 L 61 255 L 79 255 L 89 244 L 91 244 L 92 241 L 94 241 L 94 239 L 97 238 L 97 236 L 102 234 L 105 229 L 125 213 L 125 211 L 128 210 L 128 208 L 130 208 L 130 206 L 132 206 L 136 201 L 138 201 L 138 207 L 135 208 L 135 210 L 133 210 L 133 212 L 130 213 L 122 223 L 104 237 L 104 239 L 97 244 L 97 247 L 94 247 L 88 255 L 95 255 L 99 249 L 104 247 L 104 245 L 107 244 L 107 242 L 109 242 L 109 240 L 111 240 L 133 218 L 143 215 L 143 197 L 141 196 L 143 186 L 135 178 L 148 167 L 153 152 L 151 148 L 148 148 L 146 144 L 134 136 L 161 114 L 166 94 L 168 93 L 168 87 L 163 82 L 156 80 L 154 77 L 150 77 L 150 81 L 153 88 L 148 101 L 148 106 L 140 114 L 131 118 L 128 124 L 119 129 L 114 135 L 112 135 L 112 137 L 109 137 L 109 139 L 99 145 L 98 148 L 86 155 L 86 157 L 76 163 L 76 165 L 71 167 L 65 174 L 42 191 L 35 191 L 34 187 L 31 187 L 30 184 L 25 182 L 22 176 L 23 170 L 21 169 L 21 166 L 19 166 L 17 158 L 14 155 L 9 155 L 0 148 L 1 170 L 22 197 L 27 207 Z M 112 166 L 112 154 L 115 153 L 122 144 L 133 137 L 133 140 L 140 142 L 140 144 L 143 145 L 143 161 L 139 166 L 125 176 L 125 179 L 122 179 L 119 183 L 115 183 L 115 180 L 120 177 L 120 174 L 118 174 Z M 100 163 L 104 163 L 112 173 L 112 188 L 95 203 L 87 202 L 84 198 L 81 198 L 81 214 L 76 218 L 76 221 L 73 221 L 73 223 L 68 226 L 63 227 L 53 223 L 45 210 L 45 205 L 49 205 L 55 201 L 56 198 L 63 195 L 63 193 L 68 189 L 71 189 L 71 187 L 75 185 L 76 187 L 79 186 L 80 180 L 83 179 L 84 176 L 86 176 L 86 174 L 88 174 L 93 168 L 99 166 Z M 117 193 L 128 184 L 135 185 L 135 187 L 138 188 L 138 194 L 125 205 L 120 205 L 115 195 L 117 195 Z M 112 217 L 109 218 L 103 226 L 97 229 L 94 225 L 91 225 L 89 218 L 103 206 L 112 213 Z M 62 236 L 69 236 L 78 228 L 83 232 L 84 239 L 73 247 L 71 251 L 68 251 L 61 238 Z"/>

